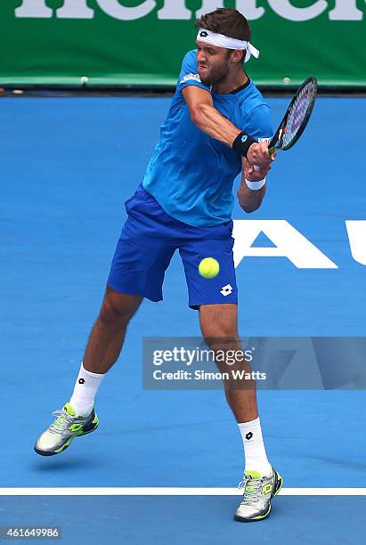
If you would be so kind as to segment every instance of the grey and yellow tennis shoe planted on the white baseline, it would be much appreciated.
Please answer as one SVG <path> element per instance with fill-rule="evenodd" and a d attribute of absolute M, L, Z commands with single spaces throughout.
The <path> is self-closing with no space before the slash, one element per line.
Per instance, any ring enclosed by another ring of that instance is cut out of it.
<path fill-rule="evenodd" d="M 271 500 L 282 487 L 282 477 L 275 469 L 269 476 L 261 476 L 257 471 L 245 471 L 239 488 L 244 489 L 243 499 L 234 513 L 240 522 L 263 520 L 271 512 Z"/>

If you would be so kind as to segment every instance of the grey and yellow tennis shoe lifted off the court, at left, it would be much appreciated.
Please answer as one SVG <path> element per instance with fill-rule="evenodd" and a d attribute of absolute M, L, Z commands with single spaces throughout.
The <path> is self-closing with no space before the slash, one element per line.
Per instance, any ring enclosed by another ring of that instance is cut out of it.
<path fill-rule="evenodd" d="M 38 437 L 34 447 L 41 456 L 60 454 L 68 448 L 75 437 L 90 434 L 99 424 L 94 409 L 86 416 L 77 416 L 69 403 L 61 410 L 53 411 L 53 415 L 57 416 L 57 419 Z"/>

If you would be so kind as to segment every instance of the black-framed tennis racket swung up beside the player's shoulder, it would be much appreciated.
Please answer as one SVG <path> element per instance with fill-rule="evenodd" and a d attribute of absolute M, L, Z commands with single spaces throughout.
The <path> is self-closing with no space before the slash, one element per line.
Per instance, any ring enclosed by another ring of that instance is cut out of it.
<path fill-rule="evenodd" d="M 308 77 L 297 89 L 297 94 L 289 104 L 279 128 L 268 144 L 268 151 L 289 150 L 305 131 L 316 99 L 318 82 L 315 77 Z M 255 167 L 259 170 L 260 167 Z"/>

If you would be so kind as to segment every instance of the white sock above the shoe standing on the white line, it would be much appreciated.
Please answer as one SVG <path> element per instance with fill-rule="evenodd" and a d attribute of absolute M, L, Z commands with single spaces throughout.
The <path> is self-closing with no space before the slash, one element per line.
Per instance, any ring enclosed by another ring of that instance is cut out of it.
<path fill-rule="evenodd" d="M 245 471 L 257 471 L 261 476 L 271 475 L 272 466 L 265 453 L 259 417 L 238 426 L 244 443 Z"/>

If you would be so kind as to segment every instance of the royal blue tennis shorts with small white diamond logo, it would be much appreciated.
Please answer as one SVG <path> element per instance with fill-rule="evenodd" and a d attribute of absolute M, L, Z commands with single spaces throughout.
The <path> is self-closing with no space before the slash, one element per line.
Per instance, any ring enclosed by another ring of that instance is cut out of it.
<path fill-rule="evenodd" d="M 126 200 L 125 207 L 128 217 L 110 266 L 110 288 L 161 301 L 165 272 L 177 249 L 191 308 L 238 303 L 232 221 L 212 227 L 183 224 L 169 216 L 142 184 Z M 219 262 L 216 278 L 206 279 L 199 274 L 199 262 L 204 257 L 215 257 Z"/>

